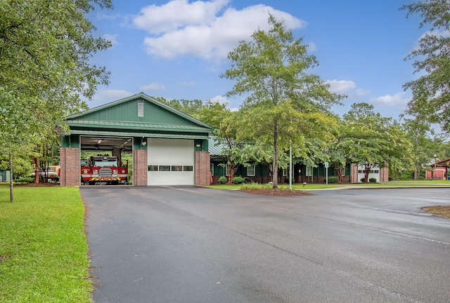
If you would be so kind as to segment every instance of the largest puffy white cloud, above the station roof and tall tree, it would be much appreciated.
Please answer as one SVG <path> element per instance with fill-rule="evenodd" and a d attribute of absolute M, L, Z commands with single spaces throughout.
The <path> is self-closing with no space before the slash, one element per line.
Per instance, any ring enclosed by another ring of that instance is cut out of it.
<path fill-rule="evenodd" d="M 193 55 L 206 60 L 221 60 L 239 41 L 248 40 L 255 30 L 267 30 L 269 13 L 285 20 L 288 29 L 304 27 L 306 22 L 289 13 L 262 4 L 238 11 L 228 0 L 172 0 L 161 6 L 141 9 L 133 22 L 149 35 L 144 44 L 149 55 L 176 58 Z"/>

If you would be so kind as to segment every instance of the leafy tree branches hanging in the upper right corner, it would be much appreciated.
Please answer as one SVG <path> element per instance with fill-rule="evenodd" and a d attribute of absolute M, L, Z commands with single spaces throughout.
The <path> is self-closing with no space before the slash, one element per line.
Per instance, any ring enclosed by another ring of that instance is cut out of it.
<path fill-rule="evenodd" d="M 439 122 L 445 130 L 450 130 L 450 1 L 416 1 L 401 6 L 407 11 L 406 17 L 419 14 L 422 18 L 419 27 L 430 25 L 419 39 L 418 48 L 414 48 L 406 60 L 415 60 L 415 73 L 421 76 L 404 84 L 411 89 L 413 97 L 408 114 L 425 114 L 428 121 Z"/>

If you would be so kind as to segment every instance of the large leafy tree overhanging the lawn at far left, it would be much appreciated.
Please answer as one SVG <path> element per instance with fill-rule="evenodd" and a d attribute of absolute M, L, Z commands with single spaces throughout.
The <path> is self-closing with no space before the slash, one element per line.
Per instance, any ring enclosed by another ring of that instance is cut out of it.
<path fill-rule="evenodd" d="M 0 152 L 11 159 L 41 130 L 63 131 L 57 124 L 67 113 L 86 107 L 80 95 L 90 98 L 99 83 L 108 83 L 105 69 L 89 63 L 91 55 L 110 47 L 94 38 L 95 27 L 85 18 L 94 6 L 112 5 L 0 1 Z"/>

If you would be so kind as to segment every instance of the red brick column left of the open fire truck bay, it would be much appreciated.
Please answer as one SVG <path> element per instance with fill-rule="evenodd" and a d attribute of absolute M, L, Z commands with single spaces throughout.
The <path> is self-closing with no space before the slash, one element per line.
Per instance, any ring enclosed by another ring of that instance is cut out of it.
<path fill-rule="evenodd" d="M 60 161 L 60 186 L 79 186 L 79 149 L 61 147 Z"/>

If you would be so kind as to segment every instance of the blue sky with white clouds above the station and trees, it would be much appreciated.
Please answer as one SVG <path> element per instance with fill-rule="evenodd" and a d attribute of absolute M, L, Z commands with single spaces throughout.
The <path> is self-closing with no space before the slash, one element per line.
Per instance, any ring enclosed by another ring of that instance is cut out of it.
<path fill-rule="evenodd" d="M 115 1 L 113 10 L 91 13 L 96 34 L 113 47 L 92 62 L 105 66 L 109 86 L 99 86 L 89 107 L 139 92 L 167 99 L 228 102 L 233 81 L 221 79 L 230 67 L 226 55 L 259 27 L 268 29 L 269 12 L 303 37 L 319 67 L 311 72 L 348 95 L 345 114 L 355 102 L 368 102 L 383 116 L 398 119 L 411 92 L 402 86 L 415 79 L 404 61 L 425 29 L 418 16 L 399 11 L 404 0 L 210 0 Z"/>

